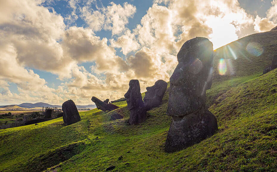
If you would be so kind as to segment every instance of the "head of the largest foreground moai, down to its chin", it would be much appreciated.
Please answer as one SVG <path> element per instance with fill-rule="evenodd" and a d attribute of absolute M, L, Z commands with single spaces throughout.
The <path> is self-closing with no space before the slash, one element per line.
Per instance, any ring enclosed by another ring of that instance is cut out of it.
<path fill-rule="evenodd" d="M 196 37 L 186 41 L 177 54 L 178 65 L 170 77 L 167 114 L 182 116 L 200 109 L 211 88 L 213 44 Z"/>

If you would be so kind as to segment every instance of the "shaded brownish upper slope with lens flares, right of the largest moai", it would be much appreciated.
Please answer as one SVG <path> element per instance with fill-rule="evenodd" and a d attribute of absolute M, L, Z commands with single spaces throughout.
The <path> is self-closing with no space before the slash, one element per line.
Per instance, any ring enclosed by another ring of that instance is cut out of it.
<path fill-rule="evenodd" d="M 276 38 L 277 30 L 256 33 L 215 50 L 213 83 L 262 74 L 263 69 L 271 64 L 273 56 L 277 54 Z"/>

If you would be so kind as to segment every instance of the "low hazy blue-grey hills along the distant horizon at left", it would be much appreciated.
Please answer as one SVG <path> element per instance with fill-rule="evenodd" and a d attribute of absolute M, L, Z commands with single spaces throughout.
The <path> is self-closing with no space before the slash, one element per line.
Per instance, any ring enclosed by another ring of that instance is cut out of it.
<path fill-rule="evenodd" d="M 51 105 L 48 103 L 43 103 L 43 102 L 39 102 L 39 103 L 21 103 L 19 105 L 7 105 L 7 106 L 19 106 L 18 108 L 33 108 L 33 107 L 50 107 L 50 108 L 61 108 L 61 105 Z M 6 107 L 6 106 L 0 106 L 1 107 Z M 89 105 L 76 105 L 76 107 L 79 108 L 96 108 L 95 104 L 89 104 Z"/>

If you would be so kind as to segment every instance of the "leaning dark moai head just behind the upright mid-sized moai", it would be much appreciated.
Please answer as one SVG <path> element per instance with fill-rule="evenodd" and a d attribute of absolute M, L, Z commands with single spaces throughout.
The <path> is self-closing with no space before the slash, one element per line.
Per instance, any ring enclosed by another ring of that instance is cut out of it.
<path fill-rule="evenodd" d="M 143 98 L 146 111 L 161 105 L 166 88 L 167 82 L 161 79 L 156 81 L 152 87 L 146 87 L 147 92 Z"/>

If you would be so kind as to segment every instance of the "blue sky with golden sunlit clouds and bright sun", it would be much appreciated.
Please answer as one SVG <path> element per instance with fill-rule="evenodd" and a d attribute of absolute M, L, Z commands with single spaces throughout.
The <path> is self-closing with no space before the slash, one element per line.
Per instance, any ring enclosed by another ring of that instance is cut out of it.
<path fill-rule="evenodd" d="M 169 81 L 180 47 L 277 25 L 277 0 L 0 0 L 0 105 L 94 104 Z"/>

